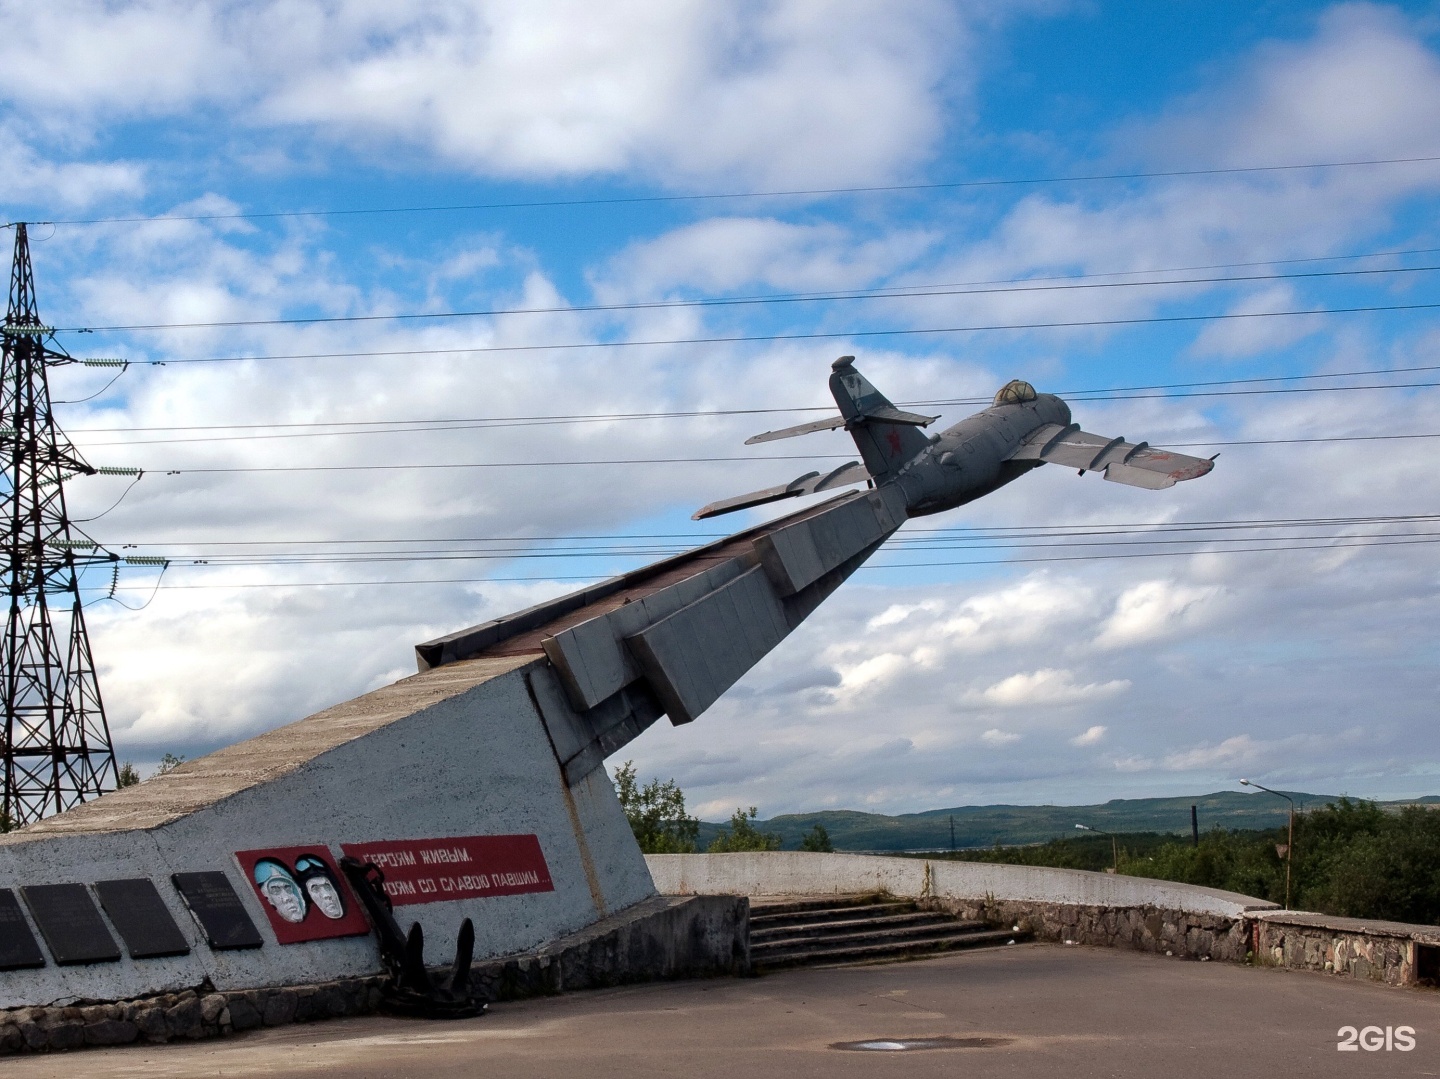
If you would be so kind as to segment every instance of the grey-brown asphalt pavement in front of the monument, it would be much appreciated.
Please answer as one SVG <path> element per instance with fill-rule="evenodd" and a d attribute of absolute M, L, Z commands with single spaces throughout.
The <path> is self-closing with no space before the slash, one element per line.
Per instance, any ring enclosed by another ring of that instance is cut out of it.
<path fill-rule="evenodd" d="M 1342 1034 L 1342 1027 L 1355 1027 L 1355 1034 Z M 1342 1040 L 1355 1049 L 1338 1049 Z M 1407 1040 L 1414 1046 L 1408 1052 Z M 1362 1047 L 1368 1044 L 1380 1047 Z M 1440 991 L 1025 944 L 916 962 L 501 1003 L 488 1016 L 454 1023 L 370 1017 L 210 1042 L 7 1057 L 0 1073 L 6 1079 L 1434 1076 L 1440 1075 Z"/>

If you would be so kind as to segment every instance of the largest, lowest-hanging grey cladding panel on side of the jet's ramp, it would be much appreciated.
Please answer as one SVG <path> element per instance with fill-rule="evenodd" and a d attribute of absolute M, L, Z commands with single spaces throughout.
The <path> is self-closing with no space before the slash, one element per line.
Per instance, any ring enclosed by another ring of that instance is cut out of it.
<path fill-rule="evenodd" d="M 757 566 L 626 638 L 672 723 L 688 723 L 791 631 Z"/>

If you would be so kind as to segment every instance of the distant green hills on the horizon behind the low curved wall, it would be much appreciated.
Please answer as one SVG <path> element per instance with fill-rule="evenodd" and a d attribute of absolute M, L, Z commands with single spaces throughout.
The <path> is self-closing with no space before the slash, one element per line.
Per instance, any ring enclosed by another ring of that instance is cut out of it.
<path fill-rule="evenodd" d="M 1339 795 L 1286 791 L 1296 808 L 1318 808 L 1338 801 Z M 1440 795 L 1380 802 L 1440 805 Z M 835 850 L 937 850 L 950 846 L 950 818 L 955 818 L 955 847 L 992 847 L 1076 836 L 1076 824 L 1104 831 L 1189 833 L 1189 807 L 1200 814 L 1201 830 L 1274 828 L 1286 821 L 1284 800 L 1264 792 L 1241 794 L 1217 791 L 1192 798 L 1115 798 L 1102 805 L 959 805 L 953 810 L 927 810 L 887 817 L 855 810 L 792 812 L 756 821 L 763 831 L 776 831 L 786 850 L 799 847 L 801 836 L 824 824 Z M 701 821 L 700 850 L 704 850 L 721 824 Z"/>

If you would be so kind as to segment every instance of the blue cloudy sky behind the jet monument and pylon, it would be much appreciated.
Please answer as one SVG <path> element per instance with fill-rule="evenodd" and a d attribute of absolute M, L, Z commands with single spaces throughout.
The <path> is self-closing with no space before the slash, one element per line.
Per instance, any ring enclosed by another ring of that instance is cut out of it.
<path fill-rule="evenodd" d="M 743 445 L 854 354 L 1220 458 L 909 523 L 612 766 L 710 818 L 1440 791 L 1440 4 L 4 3 L 0 134 L 56 344 L 131 362 L 52 393 L 144 470 L 72 516 L 170 560 L 85 579 L 141 771 L 776 516 L 690 520 L 854 457 Z"/>

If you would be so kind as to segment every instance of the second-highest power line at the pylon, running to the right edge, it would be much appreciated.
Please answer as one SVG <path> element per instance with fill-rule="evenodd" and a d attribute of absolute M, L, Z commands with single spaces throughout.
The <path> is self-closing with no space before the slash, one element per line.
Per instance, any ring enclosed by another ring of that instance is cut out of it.
<path fill-rule="evenodd" d="M 563 307 L 494 307 L 472 311 L 403 311 L 396 314 L 337 314 L 294 318 L 236 318 L 219 323 L 134 323 L 130 326 L 68 326 L 56 333 L 137 333 L 141 330 L 228 330 L 252 326 L 323 326 L 334 323 L 400 323 L 438 318 L 491 318 L 520 314 L 596 314 L 609 311 L 667 311 L 693 307 L 753 307 L 765 304 L 815 304 L 844 300 L 916 300 L 926 297 L 996 295 L 1009 292 L 1056 292 L 1090 288 L 1158 288 L 1165 285 L 1228 285 L 1254 281 L 1300 281 L 1313 278 L 1374 277 L 1380 274 L 1420 274 L 1440 267 L 1375 267 L 1367 269 L 1312 269 L 1299 274 L 1228 274 L 1224 277 L 1168 278 L 1164 281 L 1076 281 L 1044 278 L 1041 281 L 956 282 L 943 285 L 909 285 L 835 292 L 789 292 L 749 297 L 703 297 L 698 300 L 652 300 L 628 304 L 569 304 Z M 1156 271 L 1166 272 L 1166 271 Z M 900 291 L 900 290 L 904 291 Z"/>

